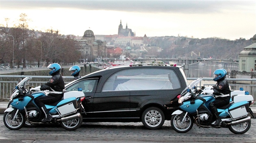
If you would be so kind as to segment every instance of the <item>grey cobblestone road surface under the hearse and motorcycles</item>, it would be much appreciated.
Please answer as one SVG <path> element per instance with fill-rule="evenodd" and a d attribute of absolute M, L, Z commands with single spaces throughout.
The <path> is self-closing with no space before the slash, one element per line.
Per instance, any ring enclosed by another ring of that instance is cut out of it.
<path fill-rule="evenodd" d="M 80 128 L 68 131 L 58 125 L 40 125 L 36 128 L 9 130 L 4 126 L 3 114 L 0 115 L 1 143 L 103 143 L 103 142 L 256 142 L 256 119 L 248 132 L 236 135 L 228 128 L 193 128 L 187 133 L 177 133 L 165 121 L 159 130 L 148 130 L 141 122 L 138 123 L 83 123 Z"/>

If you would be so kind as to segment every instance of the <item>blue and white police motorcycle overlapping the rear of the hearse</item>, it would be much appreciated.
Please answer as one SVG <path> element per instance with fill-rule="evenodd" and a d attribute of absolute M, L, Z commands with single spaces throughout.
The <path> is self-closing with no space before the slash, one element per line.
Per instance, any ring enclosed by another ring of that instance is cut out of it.
<path fill-rule="evenodd" d="M 178 97 L 179 109 L 171 116 L 171 127 L 180 133 L 191 130 L 195 123 L 199 128 L 228 128 L 234 134 L 243 134 L 251 126 L 252 114 L 249 108 L 254 102 L 252 95 L 234 95 L 228 105 L 220 107 L 218 110 L 222 122 L 214 126 L 216 117 L 211 113 L 209 103 L 215 101 L 212 94 L 207 94 L 203 88 L 197 89 L 197 84 L 202 79 L 193 81 L 185 88 Z M 240 92 L 241 93 L 241 92 Z M 254 116 L 253 116 L 254 117 Z"/>

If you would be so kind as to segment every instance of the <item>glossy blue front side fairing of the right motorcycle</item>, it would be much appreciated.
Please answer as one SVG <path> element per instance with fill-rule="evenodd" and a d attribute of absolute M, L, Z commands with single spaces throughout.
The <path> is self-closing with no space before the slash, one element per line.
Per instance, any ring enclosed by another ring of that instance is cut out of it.
<path fill-rule="evenodd" d="M 203 104 L 204 102 L 200 99 L 196 99 L 195 102 L 185 101 L 180 106 L 180 109 L 187 111 L 189 113 L 195 113 L 196 110 Z"/>

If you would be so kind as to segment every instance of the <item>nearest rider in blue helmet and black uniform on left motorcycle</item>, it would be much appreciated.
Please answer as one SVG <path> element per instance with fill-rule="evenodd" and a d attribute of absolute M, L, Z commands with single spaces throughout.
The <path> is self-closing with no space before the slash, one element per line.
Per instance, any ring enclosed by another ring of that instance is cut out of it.
<path fill-rule="evenodd" d="M 46 109 L 45 104 L 61 101 L 63 97 L 63 89 L 65 88 L 65 83 L 60 73 L 61 66 L 58 63 L 52 63 L 48 65 L 48 68 L 51 69 L 49 74 L 52 78 L 46 84 L 41 85 L 40 90 L 49 90 L 50 93 L 48 96 L 41 96 L 35 99 L 35 103 L 46 116 L 41 122 L 46 122 L 52 118 L 49 111 Z"/>

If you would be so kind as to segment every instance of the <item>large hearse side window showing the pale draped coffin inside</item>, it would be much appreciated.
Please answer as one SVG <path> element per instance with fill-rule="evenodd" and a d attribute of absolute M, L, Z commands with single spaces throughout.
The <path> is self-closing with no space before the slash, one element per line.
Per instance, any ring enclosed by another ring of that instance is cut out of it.
<path fill-rule="evenodd" d="M 172 69 L 126 69 L 112 75 L 102 91 L 169 90 L 180 88 L 180 80 Z"/>

